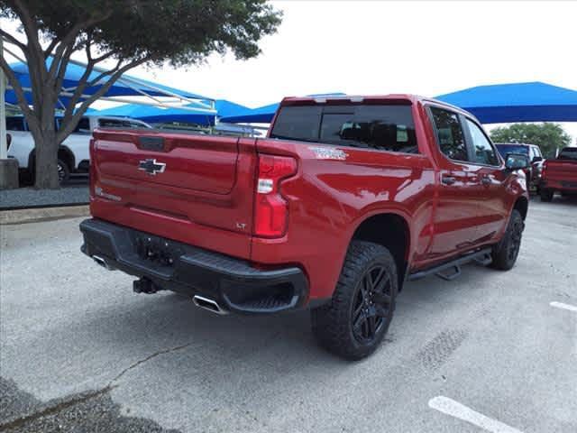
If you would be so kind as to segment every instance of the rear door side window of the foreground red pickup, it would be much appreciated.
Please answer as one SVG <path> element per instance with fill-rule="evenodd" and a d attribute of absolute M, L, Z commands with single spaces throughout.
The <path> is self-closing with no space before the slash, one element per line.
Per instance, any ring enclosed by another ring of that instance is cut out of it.
<path fill-rule="evenodd" d="M 431 115 L 435 123 L 437 140 L 441 152 L 455 161 L 469 161 L 467 144 L 465 143 L 459 115 L 436 106 L 431 107 Z"/>

